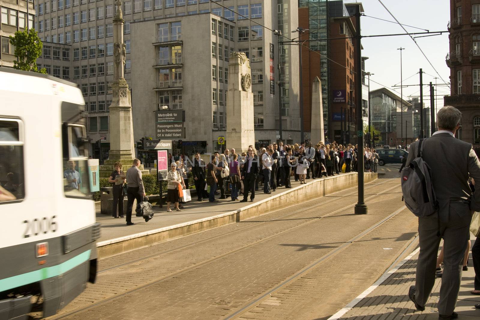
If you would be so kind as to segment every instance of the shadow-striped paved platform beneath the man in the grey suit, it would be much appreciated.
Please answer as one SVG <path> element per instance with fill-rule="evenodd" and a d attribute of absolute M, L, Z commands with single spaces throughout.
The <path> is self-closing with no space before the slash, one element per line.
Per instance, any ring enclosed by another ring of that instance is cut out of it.
<path fill-rule="evenodd" d="M 470 236 L 473 246 L 476 238 L 471 234 Z M 437 303 L 440 296 L 441 278 L 435 280 L 425 311 L 416 310 L 413 302 L 408 299 L 408 289 L 415 284 L 419 255 L 418 239 L 417 247 L 410 247 L 410 250 L 413 252 L 410 252 L 405 259 L 395 262 L 372 286 L 327 320 L 438 319 Z M 462 272 L 460 293 L 455 309 L 455 312 L 458 313 L 458 320 L 480 319 L 480 309 L 474 307 L 475 304 L 480 303 L 480 296 L 470 294 L 470 291 L 474 289 L 474 278 L 475 271 L 470 252 L 468 271 Z"/>

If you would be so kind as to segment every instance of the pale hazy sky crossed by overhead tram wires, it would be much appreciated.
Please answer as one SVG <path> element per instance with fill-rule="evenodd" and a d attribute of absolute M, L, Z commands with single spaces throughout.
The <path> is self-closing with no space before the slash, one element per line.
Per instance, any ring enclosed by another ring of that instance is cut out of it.
<path fill-rule="evenodd" d="M 345 2 L 356 1 L 346 0 Z M 359 0 L 358 2 L 362 3 L 365 15 L 395 21 L 379 0 Z M 449 0 L 382 0 L 382 2 L 401 24 L 408 24 L 429 31 L 447 31 L 447 24 L 450 20 Z M 408 32 L 425 32 L 412 27 L 404 27 Z M 370 36 L 405 32 L 396 23 L 363 16 L 361 18 L 361 33 L 362 36 Z M 424 84 L 435 83 L 434 77 L 439 78 L 437 83 L 450 82 L 450 69 L 445 63 L 445 56 L 449 51 L 448 32 L 441 36 L 417 38 L 416 41 L 445 82 L 440 79 L 440 76 L 437 75 L 409 36 L 362 38 L 362 56 L 369 57 L 365 62 L 365 71 L 374 74 L 370 78 L 371 90 L 384 86 L 392 89 L 392 85 L 400 84 L 400 50 L 397 50 L 400 47 L 405 48 L 405 50 L 402 50 L 403 85 L 417 84 L 417 86 L 403 89 L 404 99 L 410 99 L 409 95 L 420 94 L 420 74 L 418 74 L 420 68 L 425 72 L 423 73 Z M 437 88 L 437 95 L 441 95 L 437 96 L 437 107 L 441 107 L 443 106 L 443 95 L 449 95 L 450 89 L 448 86 L 438 86 Z M 397 91 L 400 95 L 399 87 Z M 423 94 L 425 104 L 430 105 L 430 90 L 428 87 L 424 87 Z"/>

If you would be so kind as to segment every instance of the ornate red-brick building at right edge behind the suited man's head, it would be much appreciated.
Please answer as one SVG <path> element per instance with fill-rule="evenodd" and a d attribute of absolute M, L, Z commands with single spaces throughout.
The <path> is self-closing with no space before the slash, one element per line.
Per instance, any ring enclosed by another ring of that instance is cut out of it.
<path fill-rule="evenodd" d="M 480 0 L 450 0 L 448 31 L 451 93 L 444 105 L 462 112 L 457 137 L 480 143 Z"/>

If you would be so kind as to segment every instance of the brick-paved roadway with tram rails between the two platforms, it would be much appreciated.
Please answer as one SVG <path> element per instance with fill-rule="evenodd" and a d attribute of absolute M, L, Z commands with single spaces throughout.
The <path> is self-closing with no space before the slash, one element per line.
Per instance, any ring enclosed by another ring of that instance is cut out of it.
<path fill-rule="evenodd" d="M 50 319 L 330 316 L 416 235 L 396 170 L 366 186 L 367 215 L 350 189 L 101 260 L 97 283 Z"/>

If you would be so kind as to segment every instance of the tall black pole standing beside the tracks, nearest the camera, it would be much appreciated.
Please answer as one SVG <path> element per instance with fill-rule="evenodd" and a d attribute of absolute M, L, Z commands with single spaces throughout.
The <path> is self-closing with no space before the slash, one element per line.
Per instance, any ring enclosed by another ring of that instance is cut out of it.
<path fill-rule="evenodd" d="M 364 199 L 364 161 L 363 161 L 363 118 L 361 116 L 361 29 L 360 29 L 360 4 L 356 6 L 355 14 L 355 31 L 357 32 L 357 41 L 355 43 L 355 101 L 357 102 L 356 117 L 357 117 L 357 142 L 358 142 L 358 202 L 355 205 L 355 214 L 367 214 L 367 205 Z"/>

